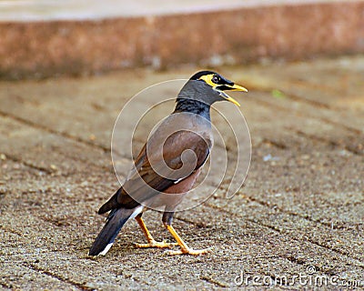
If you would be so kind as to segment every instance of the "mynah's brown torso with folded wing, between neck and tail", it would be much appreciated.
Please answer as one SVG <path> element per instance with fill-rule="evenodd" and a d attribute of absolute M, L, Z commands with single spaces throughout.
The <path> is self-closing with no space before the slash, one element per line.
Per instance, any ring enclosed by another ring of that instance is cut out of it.
<path fill-rule="evenodd" d="M 167 212 L 173 212 L 194 186 L 212 143 L 211 125 L 204 117 L 169 115 L 136 157 L 135 167 L 117 194 L 117 204 L 126 208 L 165 206 Z"/>

